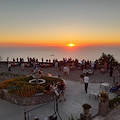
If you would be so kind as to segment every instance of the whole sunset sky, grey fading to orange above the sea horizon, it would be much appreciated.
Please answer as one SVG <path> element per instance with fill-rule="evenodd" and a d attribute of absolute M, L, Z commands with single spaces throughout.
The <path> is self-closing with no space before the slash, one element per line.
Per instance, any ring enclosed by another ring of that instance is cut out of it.
<path fill-rule="evenodd" d="M 120 45 L 120 0 L 0 0 L 0 46 Z"/>

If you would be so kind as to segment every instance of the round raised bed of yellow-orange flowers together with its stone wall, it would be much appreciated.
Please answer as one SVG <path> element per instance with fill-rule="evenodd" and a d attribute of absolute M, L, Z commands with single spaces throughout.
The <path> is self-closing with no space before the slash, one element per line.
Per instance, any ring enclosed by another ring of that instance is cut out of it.
<path fill-rule="evenodd" d="M 63 82 L 60 78 L 41 76 L 41 79 L 46 80 L 45 83 L 31 84 L 29 83 L 31 79 L 33 79 L 32 76 L 23 76 L 3 81 L 0 83 L 0 89 L 3 94 L 2 98 L 18 105 L 33 105 L 48 102 L 55 99 L 55 95 L 54 93 L 51 95 L 44 94 L 45 86 L 51 84 L 52 81 L 55 83 Z"/>

